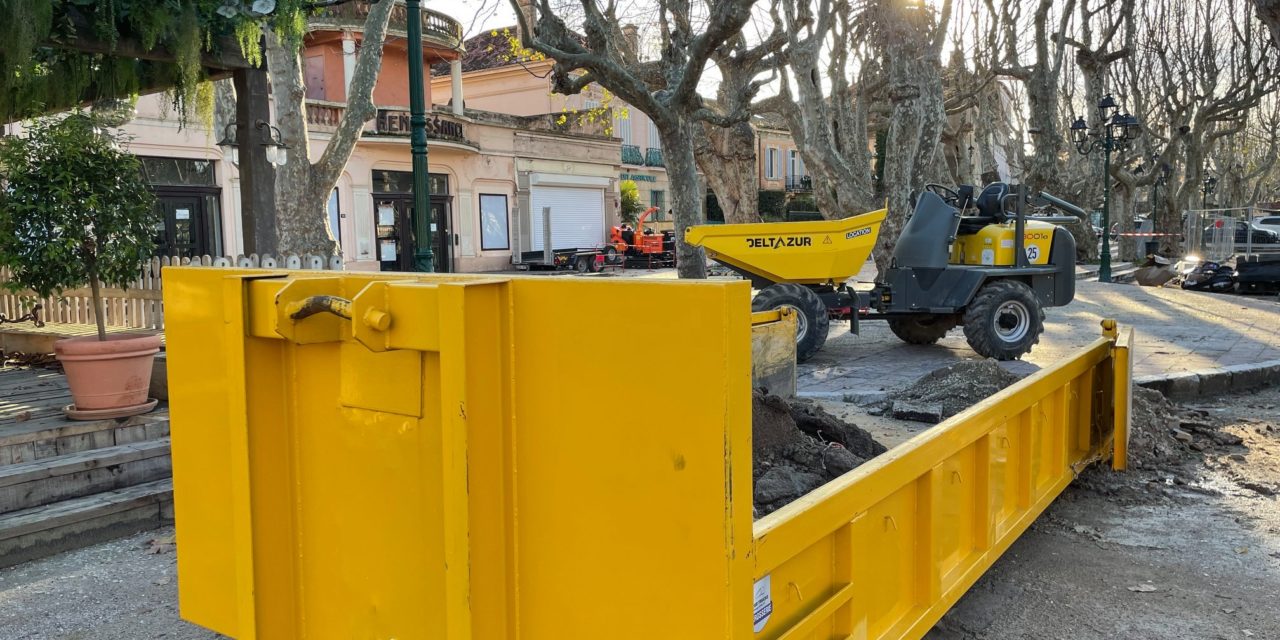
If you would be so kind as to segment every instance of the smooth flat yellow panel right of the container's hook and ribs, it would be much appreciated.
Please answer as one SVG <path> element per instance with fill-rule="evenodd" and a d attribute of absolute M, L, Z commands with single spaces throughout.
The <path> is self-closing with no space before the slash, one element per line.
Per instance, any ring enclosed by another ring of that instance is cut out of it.
<path fill-rule="evenodd" d="M 515 284 L 520 637 L 726 636 L 749 577 L 690 585 L 750 535 L 746 283 Z"/>

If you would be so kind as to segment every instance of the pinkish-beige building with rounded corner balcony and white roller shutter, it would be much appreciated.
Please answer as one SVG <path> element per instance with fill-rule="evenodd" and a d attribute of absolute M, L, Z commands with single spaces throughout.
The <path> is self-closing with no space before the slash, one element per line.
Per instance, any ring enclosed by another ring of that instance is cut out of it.
<path fill-rule="evenodd" d="M 346 109 L 347 86 L 367 5 L 349 3 L 312 19 L 302 52 L 311 157 L 329 143 Z M 393 14 L 381 73 L 374 90 L 378 115 L 329 201 L 329 223 L 347 269 L 401 270 L 412 256 L 408 65 L 404 14 Z M 462 27 L 424 15 L 425 61 L 444 69 L 429 84 L 454 106 L 429 115 L 433 250 L 451 271 L 511 269 L 522 255 L 553 248 L 600 247 L 616 224 L 622 173 L 618 140 L 599 124 L 558 123 L 558 108 L 489 113 L 462 109 Z M 179 128 L 163 96 L 143 97 L 124 127 L 143 157 L 165 220 L 156 229 L 166 255 L 239 255 L 239 174 L 221 132 L 197 123 Z M 297 152 L 297 141 L 284 141 Z M 532 211 L 549 211 L 549 218 Z"/>

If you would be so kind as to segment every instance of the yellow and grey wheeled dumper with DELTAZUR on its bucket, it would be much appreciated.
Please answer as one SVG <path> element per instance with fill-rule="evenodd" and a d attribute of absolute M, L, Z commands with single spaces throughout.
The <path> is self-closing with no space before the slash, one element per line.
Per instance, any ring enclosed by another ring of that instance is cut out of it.
<path fill-rule="evenodd" d="M 796 311 L 800 361 L 822 348 L 832 315 L 847 315 L 854 333 L 860 320 L 887 320 L 913 344 L 938 342 L 960 325 L 979 355 L 1012 360 L 1039 340 L 1044 307 L 1075 296 L 1075 239 L 1057 224 L 1078 218 L 1028 218 L 1024 198 L 1005 183 L 974 192 L 928 184 L 870 291 L 846 280 L 876 246 L 883 209 L 844 220 L 691 227 L 685 241 L 751 280 L 756 311 Z"/>

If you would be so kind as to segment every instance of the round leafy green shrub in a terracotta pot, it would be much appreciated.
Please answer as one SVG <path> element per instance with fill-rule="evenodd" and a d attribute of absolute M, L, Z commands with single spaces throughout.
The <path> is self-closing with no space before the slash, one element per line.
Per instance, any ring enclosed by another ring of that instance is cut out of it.
<path fill-rule="evenodd" d="M 90 115 L 29 123 L 0 140 L 0 264 L 6 285 L 40 297 L 88 285 L 97 335 L 55 344 L 67 372 L 76 419 L 148 411 L 151 364 L 160 337 L 113 333 L 102 316 L 101 288 L 124 288 L 154 250 L 159 218 L 140 160 L 124 138 Z"/>

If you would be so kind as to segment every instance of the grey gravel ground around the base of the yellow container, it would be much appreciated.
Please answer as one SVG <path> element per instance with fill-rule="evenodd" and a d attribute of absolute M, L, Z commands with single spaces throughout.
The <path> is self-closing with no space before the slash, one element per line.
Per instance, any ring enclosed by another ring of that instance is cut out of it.
<path fill-rule="evenodd" d="M 1073 485 L 928 639 L 1280 639 L 1277 407 L 1280 388 L 1190 407 L 1242 444 Z M 178 618 L 172 535 L 0 571 L 0 637 L 221 637 Z"/>

